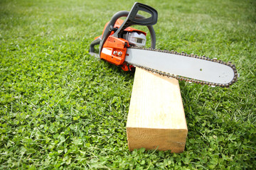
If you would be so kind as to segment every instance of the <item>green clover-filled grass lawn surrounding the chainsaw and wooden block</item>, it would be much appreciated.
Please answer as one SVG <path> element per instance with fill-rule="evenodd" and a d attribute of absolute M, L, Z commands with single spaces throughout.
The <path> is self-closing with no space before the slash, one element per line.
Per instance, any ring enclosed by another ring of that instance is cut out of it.
<path fill-rule="evenodd" d="M 240 73 L 229 89 L 180 82 L 185 152 L 129 152 L 134 74 L 88 55 L 134 1 L 1 0 L 0 169 L 256 167 L 256 2 L 141 2 L 159 12 L 157 48 L 230 60 Z"/>

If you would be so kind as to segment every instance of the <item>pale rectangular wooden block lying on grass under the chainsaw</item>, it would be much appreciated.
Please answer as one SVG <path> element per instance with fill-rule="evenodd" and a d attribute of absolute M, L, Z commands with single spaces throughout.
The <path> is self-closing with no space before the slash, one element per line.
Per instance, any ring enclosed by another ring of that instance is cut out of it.
<path fill-rule="evenodd" d="M 187 134 L 178 80 L 136 68 L 127 118 L 129 149 L 180 153 Z"/>

